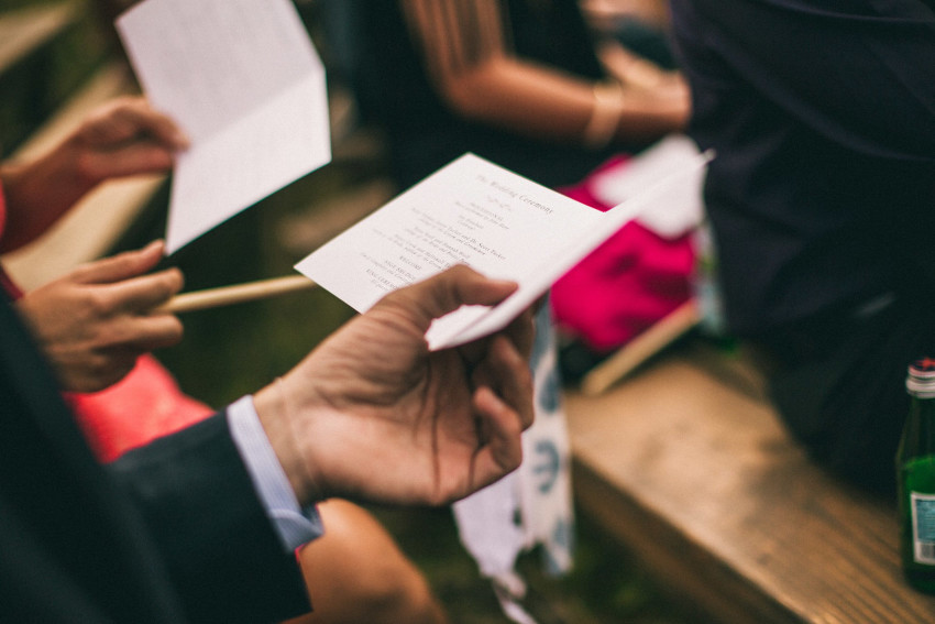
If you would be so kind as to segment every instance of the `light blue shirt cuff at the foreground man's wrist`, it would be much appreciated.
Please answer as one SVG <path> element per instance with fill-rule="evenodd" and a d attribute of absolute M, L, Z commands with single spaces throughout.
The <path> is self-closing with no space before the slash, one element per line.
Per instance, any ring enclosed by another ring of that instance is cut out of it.
<path fill-rule="evenodd" d="M 228 406 L 228 426 L 243 458 L 253 486 L 276 527 L 287 551 L 320 537 L 324 533 L 315 505 L 300 508 L 266 431 L 253 406 L 253 397 L 244 396 Z"/>

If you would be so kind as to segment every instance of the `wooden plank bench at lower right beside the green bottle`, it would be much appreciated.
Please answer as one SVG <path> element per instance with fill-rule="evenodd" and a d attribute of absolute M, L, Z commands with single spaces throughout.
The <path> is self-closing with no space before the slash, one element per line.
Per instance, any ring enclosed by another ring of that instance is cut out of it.
<path fill-rule="evenodd" d="M 903 581 L 894 503 L 793 444 L 758 375 L 690 333 L 603 393 L 566 393 L 575 496 L 715 622 L 935 622 Z"/>

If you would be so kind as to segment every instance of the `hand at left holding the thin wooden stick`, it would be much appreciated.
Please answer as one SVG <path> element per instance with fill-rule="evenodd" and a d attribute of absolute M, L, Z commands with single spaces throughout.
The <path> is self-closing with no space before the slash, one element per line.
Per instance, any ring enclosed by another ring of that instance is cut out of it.
<path fill-rule="evenodd" d="M 175 316 L 148 314 L 182 288 L 177 269 L 144 275 L 163 250 L 157 241 L 85 264 L 16 302 L 65 390 L 103 390 L 140 354 L 182 339 Z"/>

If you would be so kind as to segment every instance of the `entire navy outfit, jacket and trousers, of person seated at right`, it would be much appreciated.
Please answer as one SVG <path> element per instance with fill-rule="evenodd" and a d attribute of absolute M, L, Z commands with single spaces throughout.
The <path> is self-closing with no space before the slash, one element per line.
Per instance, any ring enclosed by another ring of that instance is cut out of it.
<path fill-rule="evenodd" d="M 673 0 L 728 327 L 810 450 L 890 485 L 906 365 L 935 349 L 935 10 Z"/>

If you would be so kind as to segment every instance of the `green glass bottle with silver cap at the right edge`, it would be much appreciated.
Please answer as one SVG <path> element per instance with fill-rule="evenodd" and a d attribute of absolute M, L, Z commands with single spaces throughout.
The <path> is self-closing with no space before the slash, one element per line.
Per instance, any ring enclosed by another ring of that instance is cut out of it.
<path fill-rule="evenodd" d="M 935 359 L 909 366 L 909 417 L 897 453 L 903 572 L 935 593 Z"/>

